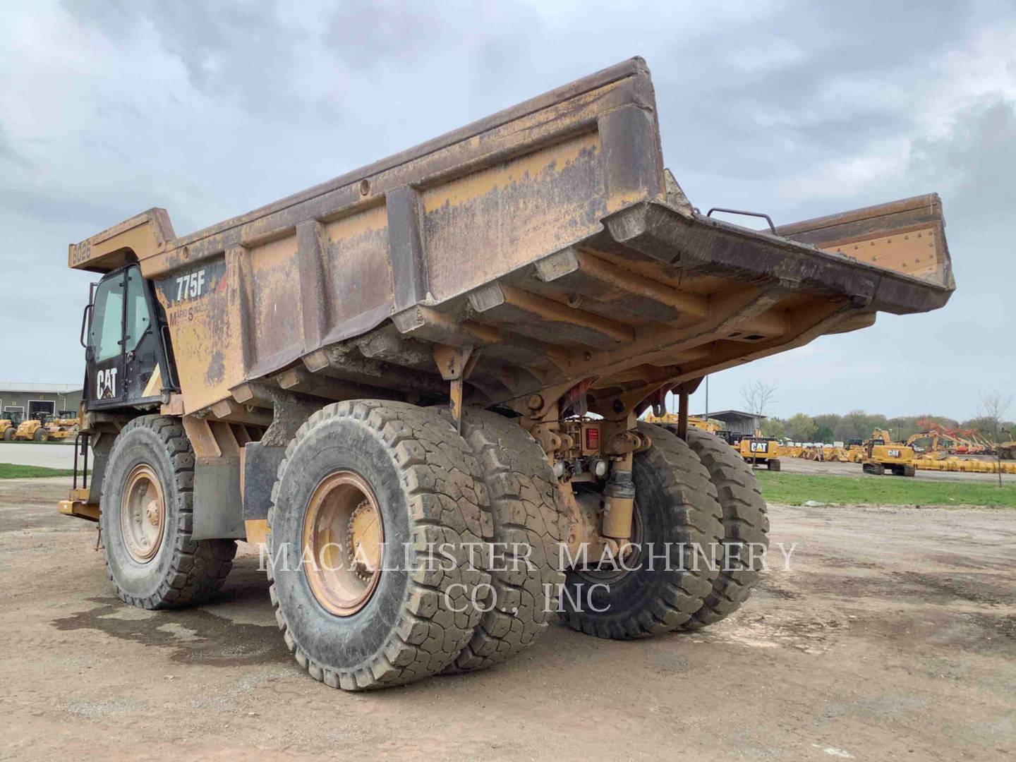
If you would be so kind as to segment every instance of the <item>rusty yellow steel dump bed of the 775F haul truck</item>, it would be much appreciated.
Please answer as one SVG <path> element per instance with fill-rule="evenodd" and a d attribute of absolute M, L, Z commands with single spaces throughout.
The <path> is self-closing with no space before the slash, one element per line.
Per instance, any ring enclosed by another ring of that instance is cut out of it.
<path fill-rule="evenodd" d="M 235 422 L 273 406 L 256 385 L 447 399 L 456 353 L 466 404 L 634 399 L 955 288 L 936 195 L 776 233 L 691 205 L 632 59 L 189 236 L 149 210 L 69 263 L 136 257 L 183 411 Z"/>

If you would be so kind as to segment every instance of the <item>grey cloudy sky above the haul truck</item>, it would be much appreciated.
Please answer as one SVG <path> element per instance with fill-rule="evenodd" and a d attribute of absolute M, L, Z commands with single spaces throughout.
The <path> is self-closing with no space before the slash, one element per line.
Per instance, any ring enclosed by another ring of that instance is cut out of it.
<path fill-rule="evenodd" d="M 641 55 L 700 207 L 945 205 L 945 309 L 716 374 L 713 409 L 757 378 L 776 415 L 963 419 L 1016 386 L 1016 4 L 654 5 L 0 0 L 0 379 L 80 380 L 68 243 L 150 206 L 187 234 Z"/>

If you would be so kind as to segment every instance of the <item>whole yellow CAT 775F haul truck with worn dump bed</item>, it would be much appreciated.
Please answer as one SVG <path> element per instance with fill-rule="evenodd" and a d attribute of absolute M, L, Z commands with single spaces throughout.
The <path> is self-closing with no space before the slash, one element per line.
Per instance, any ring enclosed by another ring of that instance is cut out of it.
<path fill-rule="evenodd" d="M 207 599 L 236 541 L 265 542 L 287 645 L 348 690 L 497 664 L 555 611 L 606 638 L 727 616 L 766 508 L 688 394 L 954 289 L 935 195 L 763 231 L 701 213 L 641 59 L 197 233 L 150 209 L 69 260 L 102 279 L 93 477 L 61 510 L 100 522 L 147 609 Z M 668 391 L 677 434 L 638 421 Z"/>

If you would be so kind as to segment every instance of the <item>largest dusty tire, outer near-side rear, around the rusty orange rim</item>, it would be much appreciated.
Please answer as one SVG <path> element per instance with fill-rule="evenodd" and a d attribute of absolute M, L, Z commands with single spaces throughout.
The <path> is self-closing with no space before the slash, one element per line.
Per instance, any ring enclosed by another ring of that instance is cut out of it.
<path fill-rule="evenodd" d="M 351 471 L 374 493 L 383 566 L 360 608 L 337 615 L 312 590 L 300 559 L 315 490 L 329 474 Z M 489 595 L 489 562 L 480 556 L 473 566 L 469 554 L 469 544 L 490 536 L 487 509 L 475 457 L 440 411 L 354 400 L 311 416 L 287 447 L 268 513 L 271 601 L 301 666 L 352 691 L 444 670 L 480 621 L 470 600 Z M 426 547 L 445 543 L 454 563 L 436 568 Z"/>

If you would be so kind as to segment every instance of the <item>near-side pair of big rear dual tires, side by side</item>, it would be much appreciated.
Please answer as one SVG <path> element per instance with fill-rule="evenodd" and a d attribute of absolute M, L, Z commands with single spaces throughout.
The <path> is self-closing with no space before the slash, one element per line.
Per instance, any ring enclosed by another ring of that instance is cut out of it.
<path fill-rule="evenodd" d="M 302 560 L 315 490 L 343 472 L 372 493 L 384 565 L 339 612 L 317 589 L 327 574 Z M 315 679 L 354 691 L 513 657 L 546 629 L 563 576 L 556 490 L 539 445 L 496 414 L 466 410 L 460 436 L 436 408 L 328 405 L 287 448 L 272 493 L 270 594 L 288 647 Z M 419 551 L 442 543 L 455 564 L 435 570 Z"/>

